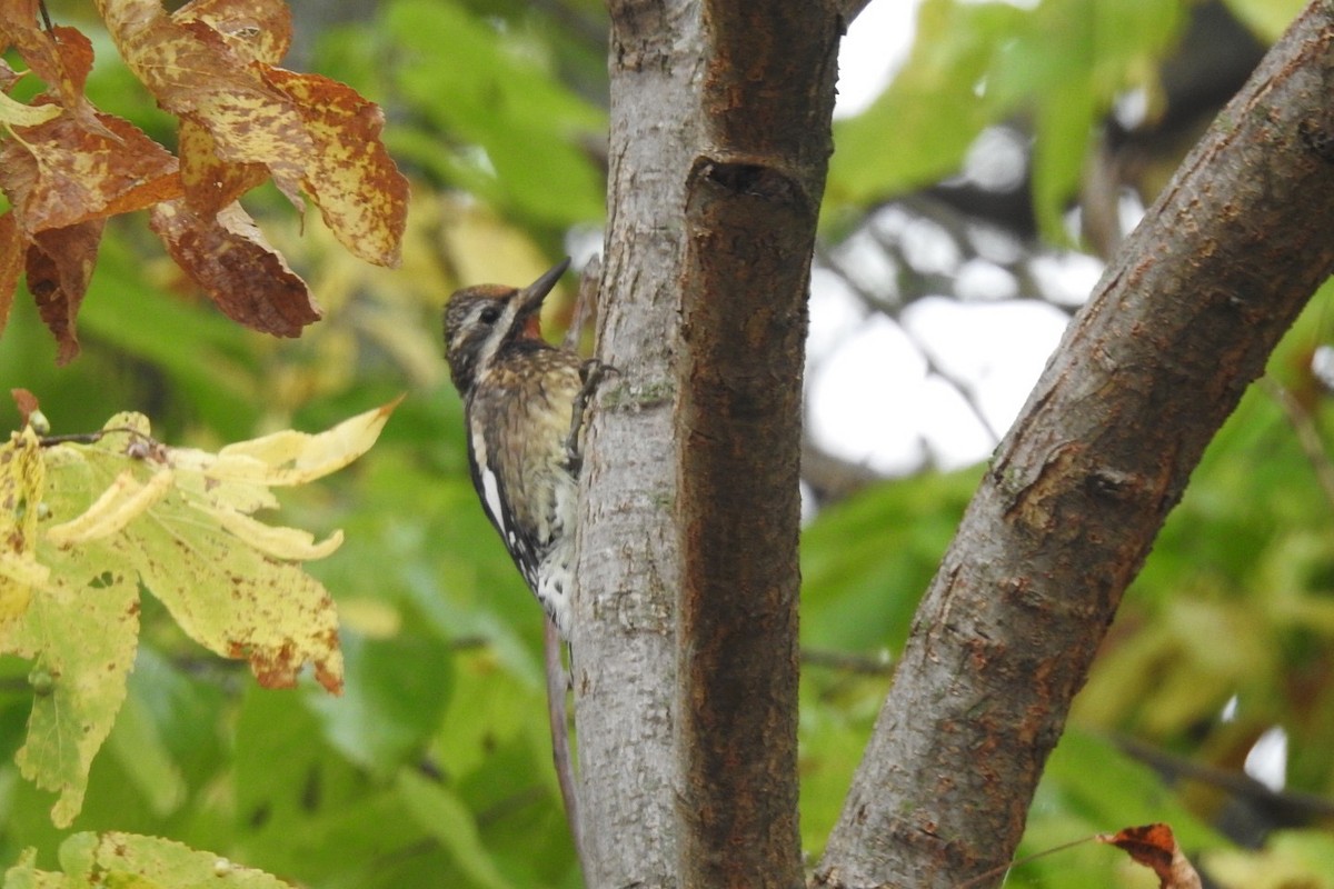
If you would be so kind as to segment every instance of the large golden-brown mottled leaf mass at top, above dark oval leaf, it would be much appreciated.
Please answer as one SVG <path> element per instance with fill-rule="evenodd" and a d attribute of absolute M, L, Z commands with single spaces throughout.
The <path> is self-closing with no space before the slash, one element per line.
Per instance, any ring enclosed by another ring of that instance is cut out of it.
<path fill-rule="evenodd" d="M 273 67 L 291 41 L 284 4 L 187 4 L 171 16 L 156 0 L 99 7 L 125 63 L 189 133 L 181 179 L 197 224 L 259 165 L 297 208 L 304 189 L 350 251 L 398 264 L 408 189 L 380 143 L 383 115 L 344 84 Z"/>

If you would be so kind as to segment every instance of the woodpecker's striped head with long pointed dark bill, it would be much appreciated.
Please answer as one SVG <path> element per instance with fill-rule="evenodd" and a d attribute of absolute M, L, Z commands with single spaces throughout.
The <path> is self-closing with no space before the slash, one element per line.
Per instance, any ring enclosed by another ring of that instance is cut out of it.
<path fill-rule="evenodd" d="M 444 308 L 444 355 L 460 395 L 468 393 L 502 347 L 542 339 L 542 301 L 567 268 L 568 259 L 523 289 L 480 284 L 450 297 Z"/>

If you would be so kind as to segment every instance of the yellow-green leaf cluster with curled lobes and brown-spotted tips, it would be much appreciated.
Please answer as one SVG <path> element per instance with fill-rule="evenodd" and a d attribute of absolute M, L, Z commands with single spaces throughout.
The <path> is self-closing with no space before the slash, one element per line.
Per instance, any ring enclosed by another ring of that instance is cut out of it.
<path fill-rule="evenodd" d="M 201 645 L 248 660 L 261 685 L 293 685 L 311 664 L 324 688 L 340 690 L 334 601 L 299 564 L 332 552 L 340 534 L 315 542 L 251 513 L 277 505 L 269 485 L 317 478 L 364 453 L 392 407 L 217 454 L 161 445 L 133 413 L 112 417 L 93 444 L 43 449 L 25 429 L 0 449 L 0 540 L 9 541 L 0 601 L 21 612 L 0 624 L 0 648 L 33 661 L 36 692 L 17 761 L 60 794 L 59 826 L 77 814 L 124 701 L 140 584 Z M 39 501 L 49 518 L 35 525 L 28 504 Z"/>

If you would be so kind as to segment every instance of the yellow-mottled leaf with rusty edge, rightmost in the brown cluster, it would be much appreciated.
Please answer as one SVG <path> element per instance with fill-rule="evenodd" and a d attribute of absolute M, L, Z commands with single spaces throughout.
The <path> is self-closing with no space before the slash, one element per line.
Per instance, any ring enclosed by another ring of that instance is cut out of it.
<path fill-rule="evenodd" d="M 380 141 L 384 115 L 355 89 L 320 75 L 263 69 L 292 99 L 315 143 L 301 184 L 324 223 L 352 253 L 378 265 L 400 261 L 408 183 Z"/>

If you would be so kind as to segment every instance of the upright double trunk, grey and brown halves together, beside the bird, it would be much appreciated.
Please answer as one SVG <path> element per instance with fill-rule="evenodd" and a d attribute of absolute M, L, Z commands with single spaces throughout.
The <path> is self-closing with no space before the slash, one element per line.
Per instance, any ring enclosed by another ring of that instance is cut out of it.
<path fill-rule="evenodd" d="M 571 640 L 584 872 L 798 886 L 804 301 L 840 23 L 778 0 L 611 19 L 616 373 L 586 445 Z"/>

